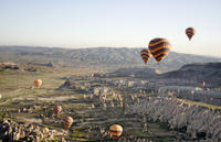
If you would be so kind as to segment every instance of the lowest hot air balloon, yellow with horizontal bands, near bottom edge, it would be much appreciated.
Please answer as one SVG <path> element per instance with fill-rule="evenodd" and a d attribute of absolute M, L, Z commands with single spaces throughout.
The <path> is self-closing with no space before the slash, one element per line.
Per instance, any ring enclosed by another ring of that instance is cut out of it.
<path fill-rule="evenodd" d="M 109 135 L 112 139 L 118 139 L 122 135 L 123 128 L 119 124 L 113 124 L 109 127 Z"/>

